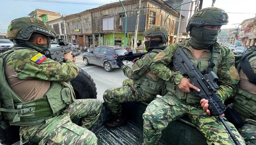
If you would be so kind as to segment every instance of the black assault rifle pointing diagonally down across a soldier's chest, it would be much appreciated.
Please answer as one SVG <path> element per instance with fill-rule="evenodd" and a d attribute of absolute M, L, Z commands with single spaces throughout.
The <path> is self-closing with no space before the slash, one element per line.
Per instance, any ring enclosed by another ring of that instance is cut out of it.
<path fill-rule="evenodd" d="M 221 116 L 225 112 L 226 106 L 222 104 L 218 94 L 216 94 L 216 91 L 219 89 L 217 84 L 218 76 L 213 71 L 203 75 L 197 67 L 193 65 L 187 54 L 182 50 L 182 47 L 177 49 L 174 53 L 172 62 L 177 71 L 180 71 L 183 76 L 188 76 L 191 80 L 191 84 L 200 89 L 200 92 L 191 89 L 191 93 L 194 96 L 199 96 L 200 98 L 209 101 L 208 109 L 210 110 L 211 115 L 218 116 L 234 143 L 236 145 L 241 145 Z"/>

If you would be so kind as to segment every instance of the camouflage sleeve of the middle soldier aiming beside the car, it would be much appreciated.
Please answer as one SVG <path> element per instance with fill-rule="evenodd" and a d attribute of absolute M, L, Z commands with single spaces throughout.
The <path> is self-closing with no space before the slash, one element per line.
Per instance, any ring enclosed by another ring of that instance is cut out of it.
<path fill-rule="evenodd" d="M 139 79 L 141 76 L 143 76 L 143 74 L 147 72 L 148 69 L 150 69 L 150 65 L 152 63 L 153 58 L 156 56 L 156 54 L 157 54 L 156 52 L 145 54 L 143 58 L 137 60 L 132 65 L 132 68 L 130 68 L 127 65 L 121 66 L 121 69 L 124 72 L 124 76 L 127 76 L 132 80 Z"/>

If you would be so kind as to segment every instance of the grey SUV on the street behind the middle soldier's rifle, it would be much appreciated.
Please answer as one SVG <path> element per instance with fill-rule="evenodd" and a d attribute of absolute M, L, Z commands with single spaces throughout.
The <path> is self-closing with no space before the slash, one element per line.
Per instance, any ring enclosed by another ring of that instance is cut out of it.
<path fill-rule="evenodd" d="M 83 63 L 85 65 L 99 65 L 104 68 L 105 71 L 110 72 L 113 68 L 119 68 L 116 60 L 110 60 L 117 58 L 117 55 L 124 55 L 127 50 L 123 47 L 117 46 L 98 46 L 90 52 L 83 54 Z M 123 61 L 125 65 L 129 64 L 128 61 Z"/>

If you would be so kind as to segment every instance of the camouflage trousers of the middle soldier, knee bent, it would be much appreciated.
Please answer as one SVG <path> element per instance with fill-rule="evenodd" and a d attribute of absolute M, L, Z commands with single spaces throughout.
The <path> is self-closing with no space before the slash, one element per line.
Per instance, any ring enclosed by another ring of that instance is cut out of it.
<path fill-rule="evenodd" d="M 121 103 L 128 101 L 145 101 L 154 100 L 155 94 L 149 94 L 142 91 L 138 85 L 133 84 L 133 81 L 126 79 L 123 81 L 123 87 L 108 89 L 103 94 L 103 99 L 108 109 L 118 115 L 122 112 Z"/>

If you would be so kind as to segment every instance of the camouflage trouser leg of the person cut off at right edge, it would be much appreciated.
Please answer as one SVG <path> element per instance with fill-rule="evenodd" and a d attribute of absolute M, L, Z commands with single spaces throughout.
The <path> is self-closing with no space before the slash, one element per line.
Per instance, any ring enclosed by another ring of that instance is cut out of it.
<path fill-rule="evenodd" d="M 246 119 L 244 126 L 238 132 L 245 139 L 247 145 L 256 145 L 256 120 Z"/>

